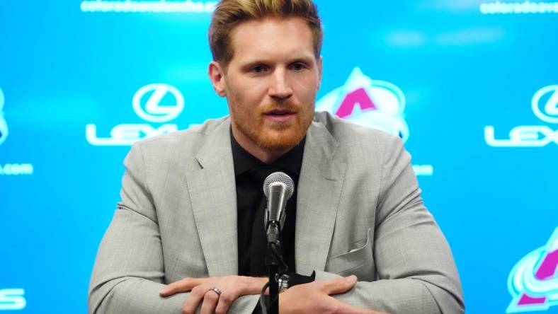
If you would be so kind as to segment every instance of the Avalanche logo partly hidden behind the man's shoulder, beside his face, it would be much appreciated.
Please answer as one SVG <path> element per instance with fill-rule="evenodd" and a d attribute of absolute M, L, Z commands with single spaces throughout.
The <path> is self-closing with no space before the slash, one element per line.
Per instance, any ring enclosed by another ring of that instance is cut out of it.
<path fill-rule="evenodd" d="M 403 116 L 403 92 L 392 83 L 370 79 L 358 67 L 353 69 L 344 86 L 321 98 L 316 109 L 365 127 L 381 129 L 403 141 L 409 138 L 409 127 Z"/>

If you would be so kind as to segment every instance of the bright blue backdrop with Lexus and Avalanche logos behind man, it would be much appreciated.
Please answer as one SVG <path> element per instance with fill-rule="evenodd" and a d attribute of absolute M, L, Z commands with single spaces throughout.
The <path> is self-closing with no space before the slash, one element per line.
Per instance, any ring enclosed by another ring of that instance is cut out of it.
<path fill-rule="evenodd" d="M 467 312 L 558 313 L 558 3 L 317 4 L 317 107 L 406 141 Z M 0 313 L 86 313 L 130 144 L 227 114 L 211 8 L 0 2 Z"/>

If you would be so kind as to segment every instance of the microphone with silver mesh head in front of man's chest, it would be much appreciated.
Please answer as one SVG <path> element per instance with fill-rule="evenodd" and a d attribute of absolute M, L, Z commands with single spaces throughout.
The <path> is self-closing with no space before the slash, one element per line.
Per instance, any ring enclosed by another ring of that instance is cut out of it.
<path fill-rule="evenodd" d="M 285 173 L 276 172 L 268 175 L 263 181 L 263 194 L 268 205 L 263 217 L 268 242 L 278 243 L 279 233 L 285 223 L 285 206 L 295 191 L 295 182 Z"/>

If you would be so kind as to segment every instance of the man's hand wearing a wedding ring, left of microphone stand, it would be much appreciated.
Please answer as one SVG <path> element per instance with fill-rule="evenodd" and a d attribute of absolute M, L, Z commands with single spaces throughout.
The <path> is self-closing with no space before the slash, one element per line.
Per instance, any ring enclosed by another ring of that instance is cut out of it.
<path fill-rule="evenodd" d="M 169 284 L 159 294 L 171 296 L 174 293 L 190 291 L 190 296 L 186 298 L 182 308 L 183 314 L 195 313 L 202 302 L 201 314 L 224 314 L 239 296 L 260 294 L 267 281 L 266 278 L 244 276 L 185 278 Z M 212 291 L 212 288 L 217 288 L 221 294 Z"/>

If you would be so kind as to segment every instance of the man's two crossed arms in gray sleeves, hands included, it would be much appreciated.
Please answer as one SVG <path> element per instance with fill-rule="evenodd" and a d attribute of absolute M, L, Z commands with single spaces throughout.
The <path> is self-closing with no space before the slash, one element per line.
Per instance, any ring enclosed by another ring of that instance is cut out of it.
<path fill-rule="evenodd" d="M 281 294 L 282 313 L 463 312 L 451 252 L 423 207 L 409 156 L 397 142 L 388 143 L 385 151 L 386 178 L 382 175 L 385 185 L 374 240 L 379 280 L 357 282 L 317 272 L 316 281 Z M 123 202 L 115 211 L 93 269 L 89 312 L 193 313 L 198 309 L 206 313 L 251 313 L 265 282 L 262 279 L 213 277 L 164 284 L 159 226 L 144 182 L 142 160 L 141 151 L 132 148 L 125 162 Z M 209 291 L 212 286 L 226 294 L 216 298 L 217 294 Z M 166 287 L 170 291 L 163 291 Z"/>

